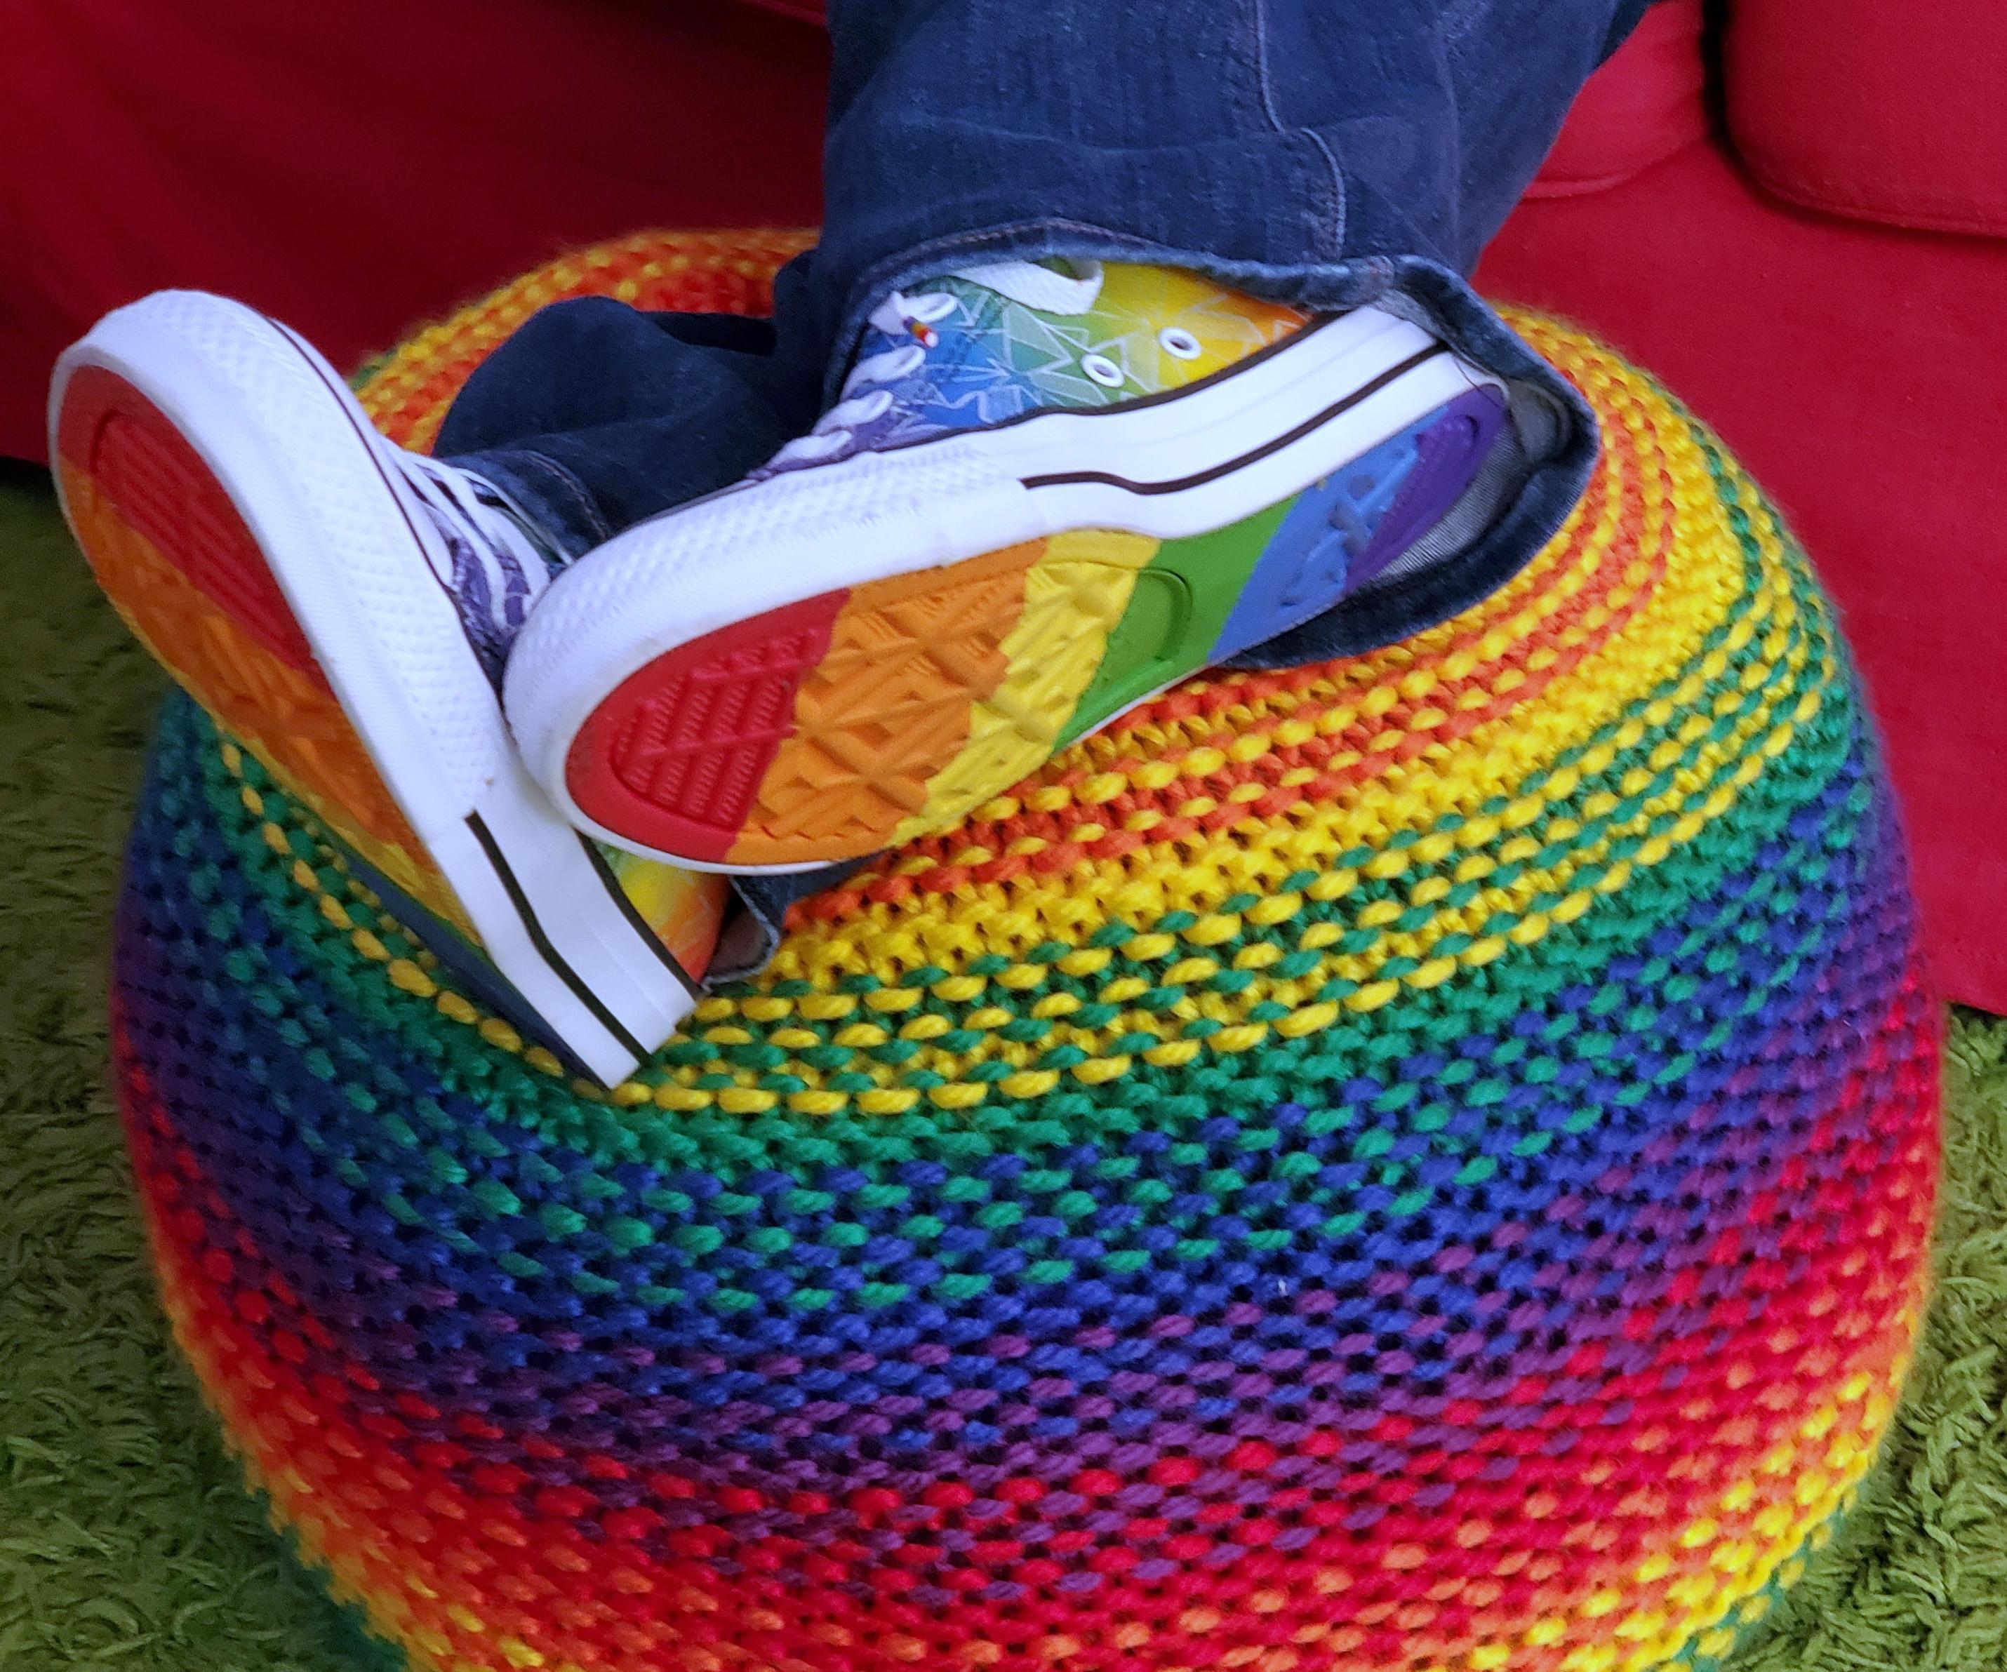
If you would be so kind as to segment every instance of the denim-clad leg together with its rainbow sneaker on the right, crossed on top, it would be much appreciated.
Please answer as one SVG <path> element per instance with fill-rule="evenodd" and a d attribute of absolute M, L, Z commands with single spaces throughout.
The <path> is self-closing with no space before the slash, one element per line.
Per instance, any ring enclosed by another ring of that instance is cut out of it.
<path fill-rule="evenodd" d="M 1638 10 L 837 0 L 777 359 L 827 347 L 841 399 L 556 582 L 504 692 L 530 773 L 636 851 L 799 871 L 1208 664 L 1495 590 L 1596 434 L 1459 269 Z"/>

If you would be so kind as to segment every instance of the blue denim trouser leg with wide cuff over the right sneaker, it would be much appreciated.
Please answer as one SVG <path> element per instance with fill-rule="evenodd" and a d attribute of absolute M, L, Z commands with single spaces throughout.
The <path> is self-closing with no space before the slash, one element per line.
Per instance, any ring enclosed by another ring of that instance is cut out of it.
<path fill-rule="evenodd" d="M 1461 552 L 1240 660 L 1385 644 L 1511 576 L 1573 506 L 1594 422 L 1463 275 L 1650 0 L 833 0 L 821 245 L 831 387 L 887 291 L 1072 255 L 1325 311 L 1417 307 L 1507 379 L 1527 470 Z"/>

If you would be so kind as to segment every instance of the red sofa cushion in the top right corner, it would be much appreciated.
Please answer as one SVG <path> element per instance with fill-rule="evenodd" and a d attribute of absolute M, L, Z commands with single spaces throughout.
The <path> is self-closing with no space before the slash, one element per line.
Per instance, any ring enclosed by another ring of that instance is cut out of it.
<path fill-rule="evenodd" d="M 1724 70 L 1736 151 L 1778 197 L 2007 235 L 1999 0 L 1736 0 Z"/>

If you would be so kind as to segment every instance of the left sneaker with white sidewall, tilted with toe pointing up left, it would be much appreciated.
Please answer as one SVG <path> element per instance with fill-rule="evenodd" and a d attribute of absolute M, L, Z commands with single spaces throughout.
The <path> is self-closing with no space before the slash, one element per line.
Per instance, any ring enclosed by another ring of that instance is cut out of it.
<path fill-rule="evenodd" d="M 719 883 L 642 867 L 644 919 L 616 877 L 634 861 L 608 863 L 524 773 L 498 680 L 556 558 L 492 484 L 391 446 L 295 333 L 191 291 L 64 353 L 50 458 L 149 650 L 450 925 L 448 961 L 476 941 L 532 1030 L 608 1082 L 674 1030 Z"/>

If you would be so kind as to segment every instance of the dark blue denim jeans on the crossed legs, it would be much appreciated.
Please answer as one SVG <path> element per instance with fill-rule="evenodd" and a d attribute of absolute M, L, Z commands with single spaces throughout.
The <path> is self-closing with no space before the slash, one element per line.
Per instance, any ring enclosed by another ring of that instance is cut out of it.
<path fill-rule="evenodd" d="M 1469 289 L 1578 88 L 1650 0 L 831 0 L 817 249 L 771 321 L 544 309 L 474 373 L 438 452 L 576 556 L 803 434 L 865 315 L 949 267 L 1192 267 L 1311 309 L 1413 311 L 1513 395 L 1523 478 L 1441 562 L 1246 662 L 1407 636 L 1505 582 L 1588 480 L 1596 424 Z M 833 873 L 743 879 L 714 971 L 765 961 Z"/>

